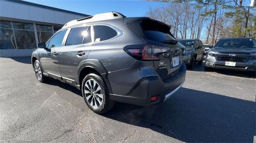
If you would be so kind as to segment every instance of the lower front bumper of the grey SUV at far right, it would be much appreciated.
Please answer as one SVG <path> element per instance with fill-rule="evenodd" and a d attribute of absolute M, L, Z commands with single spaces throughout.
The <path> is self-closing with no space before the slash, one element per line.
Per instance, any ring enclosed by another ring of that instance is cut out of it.
<path fill-rule="evenodd" d="M 256 71 L 256 59 L 251 59 L 247 63 L 236 62 L 235 67 L 230 67 L 225 65 L 225 61 L 217 61 L 215 57 L 207 55 L 205 66 L 211 67 L 214 69 L 229 69 L 229 70 L 236 70 L 236 71 Z"/>

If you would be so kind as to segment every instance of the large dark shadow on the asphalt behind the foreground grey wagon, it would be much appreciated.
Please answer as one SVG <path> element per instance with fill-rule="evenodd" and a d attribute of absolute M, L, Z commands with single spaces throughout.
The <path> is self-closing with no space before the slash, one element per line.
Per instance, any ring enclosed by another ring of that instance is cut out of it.
<path fill-rule="evenodd" d="M 253 142 L 255 102 L 181 88 L 161 104 L 116 103 L 102 116 L 184 142 Z"/>

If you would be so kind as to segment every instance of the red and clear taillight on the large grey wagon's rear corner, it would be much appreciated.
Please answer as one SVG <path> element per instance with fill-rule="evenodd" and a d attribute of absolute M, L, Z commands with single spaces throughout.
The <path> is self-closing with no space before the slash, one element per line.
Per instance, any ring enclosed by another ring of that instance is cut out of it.
<path fill-rule="evenodd" d="M 158 56 L 168 52 L 170 48 L 155 45 L 129 45 L 124 47 L 124 50 L 137 60 L 153 61 L 160 60 Z"/>

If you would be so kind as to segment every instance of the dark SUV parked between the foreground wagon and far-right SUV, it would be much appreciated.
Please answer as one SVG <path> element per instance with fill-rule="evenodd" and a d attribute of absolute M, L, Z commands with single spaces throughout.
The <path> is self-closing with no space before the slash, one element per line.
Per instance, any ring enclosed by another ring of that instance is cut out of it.
<path fill-rule="evenodd" d="M 188 68 L 194 69 L 195 63 L 202 64 L 204 60 L 204 45 L 199 39 L 179 39 L 186 47 L 185 55 L 182 57 Z"/>

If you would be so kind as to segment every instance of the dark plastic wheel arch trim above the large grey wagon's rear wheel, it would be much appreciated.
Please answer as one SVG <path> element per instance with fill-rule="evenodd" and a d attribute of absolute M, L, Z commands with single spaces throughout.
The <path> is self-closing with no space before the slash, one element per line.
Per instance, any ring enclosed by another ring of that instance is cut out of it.
<path fill-rule="evenodd" d="M 83 78 L 89 73 L 96 73 L 101 76 L 108 87 L 108 92 L 112 94 L 112 88 L 108 80 L 108 72 L 99 60 L 86 60 L 78 70 L 78 84 L 81 87 Z"/>

